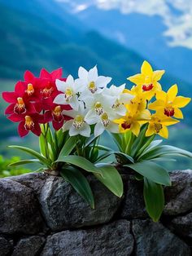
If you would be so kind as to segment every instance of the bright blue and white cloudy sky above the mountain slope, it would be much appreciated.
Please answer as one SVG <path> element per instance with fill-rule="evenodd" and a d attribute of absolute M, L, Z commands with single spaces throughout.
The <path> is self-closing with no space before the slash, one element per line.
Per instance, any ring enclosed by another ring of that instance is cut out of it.
<path fill-rule="evenodd" d="M 55 0 L 68 2 L 72 11 L 85 11 L 90 6 L 104 10 L 118 9 L 124 15 L 136 12 L 143 15 L 159 15 L 167 30 L 164 36 L 171 38 L 170 46 L 192 49 L 192 0 Z"/>

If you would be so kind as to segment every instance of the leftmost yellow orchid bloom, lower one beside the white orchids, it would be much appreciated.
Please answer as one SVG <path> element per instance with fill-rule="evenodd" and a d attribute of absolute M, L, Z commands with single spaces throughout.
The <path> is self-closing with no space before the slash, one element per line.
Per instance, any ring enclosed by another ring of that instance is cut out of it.
<path fill-rule="evenodd" d="M 151 113 L 145 108 L 142 111 L 138 111 L 135 104 L 127 104 L 125 107 L 127 108 L 126 115 L 114 120 L 114 122 L 119 124 L 120 133 L 131 130 L 134 135 L 138 136 L 141 124 L 151 119 Z"/>

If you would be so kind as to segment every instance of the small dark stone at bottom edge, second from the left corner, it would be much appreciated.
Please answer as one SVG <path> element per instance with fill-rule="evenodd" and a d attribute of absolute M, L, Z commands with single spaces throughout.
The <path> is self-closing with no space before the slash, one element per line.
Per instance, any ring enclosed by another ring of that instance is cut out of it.
<path fill-rule="evenodd" d="M 13 251 L 12 256 L 39 255 L 46 239 L 41 236 L 29 236 L 21 239 Z"/>

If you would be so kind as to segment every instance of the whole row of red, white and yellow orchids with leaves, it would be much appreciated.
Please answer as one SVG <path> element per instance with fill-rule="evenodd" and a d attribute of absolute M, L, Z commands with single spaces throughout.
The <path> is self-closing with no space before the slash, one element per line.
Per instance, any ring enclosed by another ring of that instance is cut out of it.
<path fill-rule="evenodd" d="M 164 70 L 153 71 L 144 61 L 141 73 L 129 77 L 133 87 L 107 86 L 111 77 L 98 76 L 95 66 L 80 67 L 78 78 L 62 78 L 62 69 L 40 76 L 26 71 L 15 91 L 3 92 L 9 103 L 5 113 L 18 122 L 20 137 L 33 132 L 39 137 L 40 152 L 10 146 L 35 159 L 17 161 L 12 166 L 39 163 L 47 174 L 61 175 L 94 208 L 94 195 L 86 179 L 94 174 L 116 196 L 123 195 L 120 168 L 142 180 L 146 210 L 158 221 L 164 209 L 163 186 L 170 186 L 168 171 L 158 163 L 170 157 L 192 157 L 190 152 L 160 145 L 159 135 L 168 138 L 168 126 L 183 118 L 180 108 L 190 98 L 177 96 L 177 85 L 165 92 L 159 80 Z M 52 125 L 51 125 L 52 123 Z M 118 151 L 99 143 L 103 132 L 114 139 Z M 107 157 L 113 156 L 112 162 Z M 105 162 L 103 162 L 105 160 Z"/>

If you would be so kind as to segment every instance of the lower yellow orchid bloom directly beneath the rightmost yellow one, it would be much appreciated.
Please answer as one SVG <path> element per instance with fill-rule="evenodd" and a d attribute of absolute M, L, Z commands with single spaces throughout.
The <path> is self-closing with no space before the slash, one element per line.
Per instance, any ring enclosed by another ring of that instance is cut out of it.
<path fill-rule="evenodd" d="M 168 127 L 177 124 L 178 120 L 172 117 L 165 117 L 155 113 L 151 116 L 149 126 L 146 130 L 146 137 L 157 134 L 161 137 L 168 139 Z"/>

